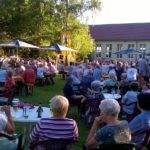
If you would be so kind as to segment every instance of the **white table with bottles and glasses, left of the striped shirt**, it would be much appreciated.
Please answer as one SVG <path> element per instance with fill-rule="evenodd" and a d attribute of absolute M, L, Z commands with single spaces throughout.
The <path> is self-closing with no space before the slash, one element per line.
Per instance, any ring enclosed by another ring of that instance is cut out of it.
<path fill-rule="evenodd" d="M 50 113 L 50 108 L 48 107 L 42 107 L 43 108 L 43 112 L 41 115 L 41 118 L 47 118 L 47 117 L 51 117 L 51 113 Z M 18 108 L 17 112 L 15 112 L 13 110 L 13 108 L 11 107 L 11 115 L 13 117 L 14 122 L 19 122 L 19 123 L 23 123 L 23 135 L 24 135 L 24 142 L 23 144 L 26 144 L 29 140 L 29 134 L 31 132 L 31 127 L 33 123 L 36 123 L 38 121 L 40 121 L 41 118 L 38 118 L 38 114 L 37 114 L 37 109 L 38 106 L 35 106 L 32 109 L 27 109 L 27 114 L 28 117 L 25 118 L 23 116 L 23 109 L 22 108 Z M 27 140 L 27 142 L 25 142 L 25 140 Z"/>

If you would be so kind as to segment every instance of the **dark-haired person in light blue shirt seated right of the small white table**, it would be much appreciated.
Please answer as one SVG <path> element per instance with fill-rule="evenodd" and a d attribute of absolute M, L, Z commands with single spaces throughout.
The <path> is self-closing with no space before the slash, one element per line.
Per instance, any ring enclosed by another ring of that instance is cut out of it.
<path fill-rule="evenodd" d="M 133 117 L 134 113 L 136 113 L 137 110 L 136 105 L 137 105 L 137 95 L 139 94 L 138 89 L 139 84 L 137 82 L 132 82 L 130 85 L 130 90 L 122 97 L 121 100 L 123 112 L 125 114 L 133 115 Z"/>

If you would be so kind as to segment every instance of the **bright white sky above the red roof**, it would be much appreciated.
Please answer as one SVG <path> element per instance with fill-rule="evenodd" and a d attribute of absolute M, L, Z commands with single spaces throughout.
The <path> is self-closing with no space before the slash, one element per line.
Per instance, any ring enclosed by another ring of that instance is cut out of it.
<path fill-rule="evenodd" d="M 100 12 L 85 13 L 87 24 L 150 22 L 150 0 L 101 0 Z"/>

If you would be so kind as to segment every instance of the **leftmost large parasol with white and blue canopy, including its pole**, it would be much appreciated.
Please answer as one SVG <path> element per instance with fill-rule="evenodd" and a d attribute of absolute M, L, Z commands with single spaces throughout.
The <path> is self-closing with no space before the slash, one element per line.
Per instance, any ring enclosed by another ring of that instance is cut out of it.
<path fill-rule="evenodd" d="M 18 57 L 18 48 L 29 48 L 29 49 L 39 49 L 38 46 L 26 43 L 24 41 L 20 40 L 12 40 L 6 43 L 0 43 L 0 47 L 14 47 L 17 51 L 17 57 Z"/>

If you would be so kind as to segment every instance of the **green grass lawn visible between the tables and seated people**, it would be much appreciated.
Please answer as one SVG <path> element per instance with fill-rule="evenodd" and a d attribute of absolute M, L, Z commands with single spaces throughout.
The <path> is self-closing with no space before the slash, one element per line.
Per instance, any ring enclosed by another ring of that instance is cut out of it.
<path fill-rule="evenodd" d="M 56 76 L 55 79 L 55 85 L 45 85 L 45 86 L 36 86 L 34 87 L 33 95 L 32 96 L 19 96 L 20 100 L 25 100 L 29 103 L 34 103 L 35 105 L 38 105 L 39 103 L 42 103 L 43 106 L 48 107 L 49 100 L 55 96 L 55 95 L 62 95 L 62 88 L 64 85 L 64 80 L 60 79 L 59 76 Z M 79 128 L 79 140 L 78 142 L 73 146 L 74 150 L 81 150 L 82 145 L 84 144 L 87 134 L 89 132 L 89 127 L 86 127 L 84 124 L 84 121 L 79 118 L 77 115 L 77 109 L 72 108 L 71 109 L 71 117 L 76 120 Z M 16 130 L 17 132 L 22 132 L 22 126 L 23 124 L 17 123 L 16 124 Z"/>

